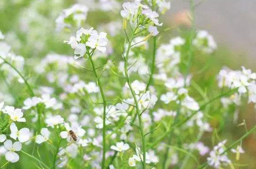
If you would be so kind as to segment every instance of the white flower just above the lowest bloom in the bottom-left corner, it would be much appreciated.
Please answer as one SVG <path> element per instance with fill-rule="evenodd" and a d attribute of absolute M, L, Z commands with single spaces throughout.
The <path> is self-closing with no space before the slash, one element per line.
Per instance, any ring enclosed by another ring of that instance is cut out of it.
<path fill-rule="evenodd" d="M 10 125 L 10 130 L 10 137 L 13 138 L 14 140 L 18 138 L 21 143 L 29 140 L 30 132 L 28 128 L 22 128 L 19 131 L 15 123 L 12 123 Z"/>

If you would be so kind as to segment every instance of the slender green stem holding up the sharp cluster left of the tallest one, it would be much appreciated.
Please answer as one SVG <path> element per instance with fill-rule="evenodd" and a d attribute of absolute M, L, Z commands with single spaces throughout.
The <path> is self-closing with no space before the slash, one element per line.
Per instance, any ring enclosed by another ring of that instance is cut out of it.
<path fill-rule="evenodd" d="M 93 72 L 94 72 L 94 75 L 96 77 L 96 81 L 97 81 L 97 84 L 100 88 L 100 92 L 101 92 L 101 98 L 103 100 L 103 133 L 102 133 L 102 136 L 103 136 L 103 156 L 102 156 L 102 162 L 101 162 L 101 169 L 105 169 L 106 167 L 106 106 L 107 106 L 107 101 L 106 101 L 106 98 L 105 98 L 105 94 L 103 92 L 103 88 L 102 88 L 102 85 L 101 85 L 101 81 L 100 81 L 100 78 L 96 72 L 96 68 L 95 68 L 95 65 L 94 65 L 94 62 L 93 62 L 93 58 L 91 56 L 91 54 L 88 52 L 88 56 L 89 56 L 89 59 L 91 61 L 91 64 L 92 64 L 92 68 L 93 68 Z"/>

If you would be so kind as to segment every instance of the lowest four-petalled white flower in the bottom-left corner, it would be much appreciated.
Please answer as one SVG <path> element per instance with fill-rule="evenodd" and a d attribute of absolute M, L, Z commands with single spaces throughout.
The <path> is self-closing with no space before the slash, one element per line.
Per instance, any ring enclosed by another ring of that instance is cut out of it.
<path fill-rule="evenodd" d="M 5 158 L 7 161 L 11 163 L 16 163 L 19 161 L 20 156 L 15 152 L 15 151 L 20 151 L 21 150 L 21 143 L 20 142 L 15 142 L 13 143 L 11 140 L 6 140 L 4 142 L 4 147 L 9 150 L 5 154 Z"/>

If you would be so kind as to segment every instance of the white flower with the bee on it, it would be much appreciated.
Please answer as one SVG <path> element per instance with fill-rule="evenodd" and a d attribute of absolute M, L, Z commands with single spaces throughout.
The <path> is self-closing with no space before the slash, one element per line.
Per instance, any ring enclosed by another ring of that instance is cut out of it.
<path fill-rule="evenodd" d="M 64 123 L 67 131 L 61 131 L 61 138 L 68 138 L 71 140 L 71 136 L 68 135 L 69 131 L 74 131 L 75 135 L 78 137 L 83 137 L 85 135 L 85 130 L 81 128 L 77 123 L 71 123 L 71 127 L 68 123 Z"/>

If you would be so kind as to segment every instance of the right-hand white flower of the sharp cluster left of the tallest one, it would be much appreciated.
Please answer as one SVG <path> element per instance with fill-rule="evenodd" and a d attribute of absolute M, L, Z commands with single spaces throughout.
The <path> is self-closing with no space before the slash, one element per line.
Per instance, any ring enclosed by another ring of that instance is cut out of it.
<path fill-rule="evenodd" d="M 105 53 L 107 48 L 105 47 L 108 44 L 108 38 L 107 33 L 101 32 L 98 35 L 97 31 L 93 31 L 91 36 L 88 38 L 88 41 L 86 42 L 86 45 L 89 46 L 92 49 L 97 49 L 101 51 L 102 53 Z"/>

